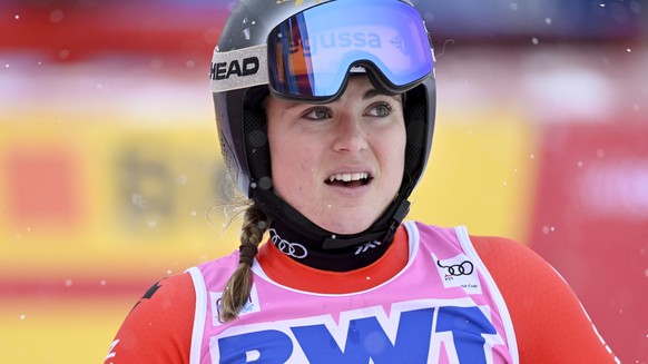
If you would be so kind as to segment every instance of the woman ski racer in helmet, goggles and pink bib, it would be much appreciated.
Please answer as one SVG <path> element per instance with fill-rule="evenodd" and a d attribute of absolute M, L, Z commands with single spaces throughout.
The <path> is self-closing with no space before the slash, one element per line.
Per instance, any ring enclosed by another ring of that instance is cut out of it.
<path fill-rule="evenodd" d="M 239 252 L 156 284 L 106 363 L 615 363 L 524 246 L 402 223 L 433 66 L 406 1 L 240 0 L 210 72 Z"/>

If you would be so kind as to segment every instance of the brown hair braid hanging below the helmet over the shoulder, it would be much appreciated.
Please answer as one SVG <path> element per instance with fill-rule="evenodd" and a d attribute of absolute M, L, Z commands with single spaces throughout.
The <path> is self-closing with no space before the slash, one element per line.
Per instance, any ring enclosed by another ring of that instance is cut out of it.
<path fill-rule="evenodd" d="M 223 323 L 234 321 L 247 303 L 252 288 L 252 262 L 268 226 L 269 219 L 267 215 L 256 207 L 254 203 L 248 204 L 244 210 L 243 225 L 240 227 L 238 267 L 227 281 L 223 292 L 218 321 Z"/>

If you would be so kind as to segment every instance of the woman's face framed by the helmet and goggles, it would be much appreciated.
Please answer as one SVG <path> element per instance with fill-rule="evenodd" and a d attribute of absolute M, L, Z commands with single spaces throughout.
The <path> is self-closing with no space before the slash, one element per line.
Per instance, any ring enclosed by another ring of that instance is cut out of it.
<path fill-rule="evenodd" d="M 352 77 L 331 104 L 268 98 L 268 138 L 277 195 L 337 234 L 369 228 L 403 178 L 405 125 L 400 96 Z"/>

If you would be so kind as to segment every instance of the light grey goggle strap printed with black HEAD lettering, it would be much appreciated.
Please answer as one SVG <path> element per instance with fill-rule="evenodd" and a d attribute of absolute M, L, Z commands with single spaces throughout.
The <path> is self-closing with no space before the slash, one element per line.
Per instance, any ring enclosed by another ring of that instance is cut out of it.
<path fill-rule="evenodd" d="M 227 52 L 215 50 L 209 79 L 213 92 L 267 85 L 267 46 L 259 45 Z"/>

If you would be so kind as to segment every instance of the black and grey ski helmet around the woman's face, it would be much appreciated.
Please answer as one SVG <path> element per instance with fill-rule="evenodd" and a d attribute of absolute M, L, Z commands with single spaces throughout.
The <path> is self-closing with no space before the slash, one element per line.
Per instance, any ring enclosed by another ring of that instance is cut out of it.
<path fill-rule="evenodd" d="M 346 247 L 369 240 L 391 239 L 395 228 L 408 214 L 408 197 L 423 175 L 432 145 L 435 115 L 434 71 L 432 68 L 421 79 L 399 89 L 385 78 L 381 66 L 376 65 L 380 59 L 355 59 L 353 65 L 342 70 L 348 75 L 352 67 L 360 65 L 365 69 L 374 87 L 379 86 L 380 88 L 376 88 L 387 94 L 401 91 L 405 94 L 406 146 L 403 180 L 392 204 L 367 230 L 353 235 L 338 235 L 324 230 L 306 219 L 273 190 L 266 116 L 261 104 L 268 92 L 274 94 L 274 90 L 268 87 L 267 79 L 277 76 L 272 75 L 273 67 L 268 67 L 267 60 L 272 57 L 266 57 L 265 48 L 269 48 L 268 37 L 273 30 L 306 10 L 354 2 L 362 7 L 366 6 L 363 10 L 371 13 L 376 1 L 238 0 L 220 33 L 212 62 L 210 79 L 220 149 L 232 178 L 239 190 L 252 198 L 264 213 L 273 218 L 287 220 L 314 237 L 321 237 L 325 240 L 324 246 L 330 248 Z M 380 0 L 380 2 L 399 7 L 406 4 L 413 9 L 409 0 Z M 420 14 L 418 12 L 415 14 L 418 17 L 415 21 L 420 22 L 420 27 L 424 29 Z M 336 18 L 332 17 L 330 21 L 334 24 Z M 429 46 L 426 49 L 433 60 L 432 45 L 425 30 L 424 32 L 428 42 L 425 47 Z M 430 63 L 432 63 L 430 67 L 433 67 L 433 61 Z M 336 95 L 325 101 L 336 98 L 344 87 L 345 82 Z"/>

